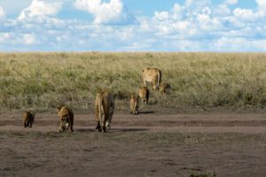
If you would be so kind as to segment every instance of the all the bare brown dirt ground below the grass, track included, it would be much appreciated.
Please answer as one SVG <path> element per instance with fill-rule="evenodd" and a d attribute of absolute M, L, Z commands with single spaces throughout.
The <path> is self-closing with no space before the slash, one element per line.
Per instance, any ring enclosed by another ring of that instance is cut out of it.
<path fill-rule="evenodd" d="M 58 134 L 56 114 L 0 114 L 0 176 L 266 176 L 266 115 L 117 113 L 112 129 L 75 114 Z"/>

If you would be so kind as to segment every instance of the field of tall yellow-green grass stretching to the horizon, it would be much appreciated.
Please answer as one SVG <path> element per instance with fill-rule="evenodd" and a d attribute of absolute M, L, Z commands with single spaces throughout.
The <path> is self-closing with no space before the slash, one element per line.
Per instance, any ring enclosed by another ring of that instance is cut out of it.
<path fill-rule="evenodd" d="M 154 106 L 266 105 L 266 53 L 1 53 L 1 111 L 50 111 L 57 104 L 91 111 L 99 89 L 112 91 L 116 110 L 125 111 L 147 66 L 160 68 L 172 87 L 169 96 L 152 90 Z"/>

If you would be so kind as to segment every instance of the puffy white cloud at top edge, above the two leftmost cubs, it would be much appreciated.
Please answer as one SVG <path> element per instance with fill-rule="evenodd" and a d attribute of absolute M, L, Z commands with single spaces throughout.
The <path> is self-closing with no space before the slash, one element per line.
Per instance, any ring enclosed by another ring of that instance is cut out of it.
<path fill-rule="evenodd" d="M 59 1 L 33 0 L 32 3 L 22 12 L 18 19 L 27 20 L 31 18 L 55 16 L 61 9 L 62 3 Z"/>

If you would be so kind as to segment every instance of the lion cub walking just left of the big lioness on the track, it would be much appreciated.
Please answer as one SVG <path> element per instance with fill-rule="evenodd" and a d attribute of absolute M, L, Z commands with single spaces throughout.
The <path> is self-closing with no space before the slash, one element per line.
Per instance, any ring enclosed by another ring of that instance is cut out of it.
<path fill-rule="evenodd" d="M 72 109 L 68 106 L 59 105 L 57 107 L 57 112 L 60 119 L 59 132 L 65 132 L 66 130 L 73 132 L 74 113 Z"/>

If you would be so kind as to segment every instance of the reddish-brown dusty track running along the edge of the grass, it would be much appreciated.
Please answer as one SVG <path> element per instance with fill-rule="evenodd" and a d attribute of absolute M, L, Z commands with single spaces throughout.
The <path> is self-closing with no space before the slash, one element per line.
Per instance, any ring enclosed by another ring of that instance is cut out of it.
<path fill-rule="evenodd" d="M 94 129 L 96 120 L 92 114 L 75 114 L 76 131 Z M 59 119 L 56 114 L 38 113 L 33 128 L 22 127 L 20 114 L 1 114 L 0 131 L 57 131 Z M 162 131 L 179 133 L 266 133 L 265 114 L 115 114 L 113 131 L 139 129 L 143 131 Z"/>

